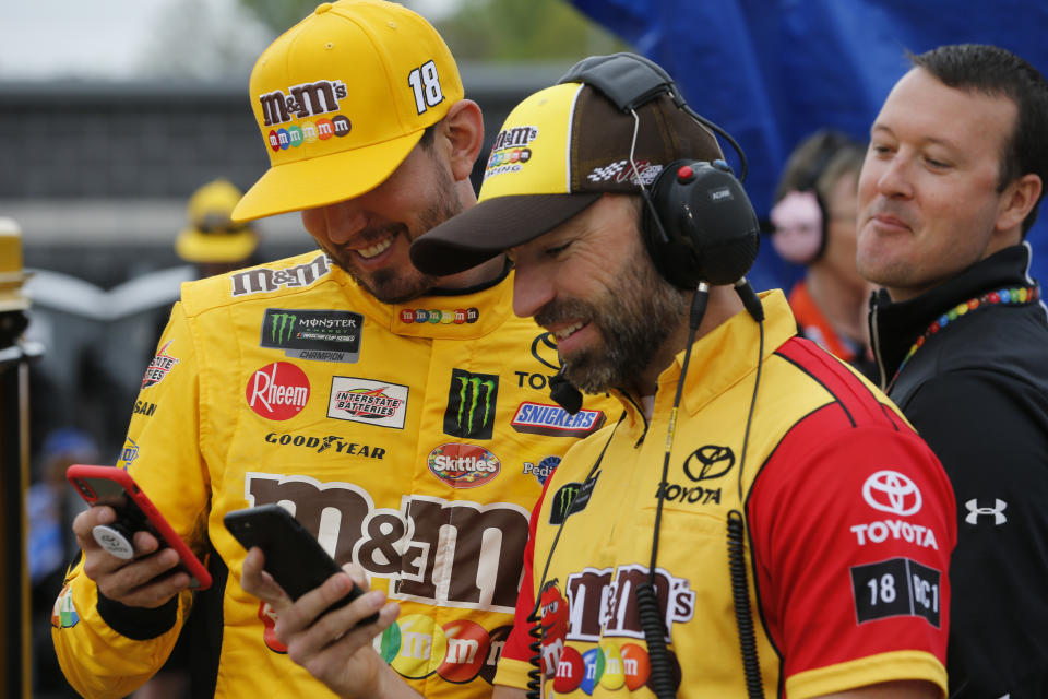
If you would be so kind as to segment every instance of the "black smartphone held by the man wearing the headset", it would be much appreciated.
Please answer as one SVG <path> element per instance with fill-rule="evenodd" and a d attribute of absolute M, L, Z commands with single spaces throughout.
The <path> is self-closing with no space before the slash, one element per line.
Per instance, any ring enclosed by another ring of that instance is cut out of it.
<path fill-rule="evenodd" d="M 342 571 L 320 542 L 279 505 L 234 510 L 227 512 L 223 521 L 245 550 L 252 546 L 262 549 L 265 554 L 265 571 L 273 576 L 291 600 L 298 600 Z M 354 585 L 349 594 L 332 604 L 329 611 L 345 606 L 361 594 L 360 588 Z M 378 620 L 379 615 L 374 613 L 360 619 L 357 626 Z"/>

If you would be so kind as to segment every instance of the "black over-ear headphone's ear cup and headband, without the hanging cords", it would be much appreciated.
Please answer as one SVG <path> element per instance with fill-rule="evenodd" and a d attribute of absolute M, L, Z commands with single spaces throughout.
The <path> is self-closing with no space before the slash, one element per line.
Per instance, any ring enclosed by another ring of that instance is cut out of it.
<path fill-rule="evenodd" d="M 591 57 L 559 82 L 586 83 L 627 114 L 668 93 L 678 108 L 735 147 L 745 179 L 746 156 L 735 139 L 689 108 L 669 74 L 643 56 Z M 641 191 L 644 245 L 659 274 L 671 284 L 689 289 L 701 282 L 734 284 L 753 265 L 760 224 L 740 180 L 724 161 L 675 161 L 659 173 L 650 191 L 643 183 Z"/>

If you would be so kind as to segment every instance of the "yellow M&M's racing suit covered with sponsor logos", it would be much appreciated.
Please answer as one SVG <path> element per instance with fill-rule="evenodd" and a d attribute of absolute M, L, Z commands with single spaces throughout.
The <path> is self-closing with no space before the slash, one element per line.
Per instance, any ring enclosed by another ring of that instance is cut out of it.
<path fill-rule="evenodd" d="M 127 469 L 214 577 L 159 609 L 67 576 L 52 635 L 85 697 L 123 697 L 193 611 L 194 696 L 324 697 L 239 583 L 230 510 L 281 503 L 401 603 L 376 649 L 426 697 L 491 691 L 528 514 L 606 420 L 548 398 L 549 335 L 512 315 L 512 273 L 388 305 L 311 252 L 182 287 L 135 402 Z M 591 400 L 590 403 L 593 403 Z"/>

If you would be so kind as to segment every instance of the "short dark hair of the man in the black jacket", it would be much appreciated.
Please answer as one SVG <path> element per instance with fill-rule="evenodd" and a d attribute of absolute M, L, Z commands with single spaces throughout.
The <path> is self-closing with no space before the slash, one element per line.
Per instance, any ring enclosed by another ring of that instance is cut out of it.
<path fill-rule="evenodd" d="M 998 46 L 952 44 L 907 56 L 916 68 L 927 70 L 948 87 L 1004 96 L 1015 103 L 1019 117 L 1004 142 L 998 191 L 1026 173 L 1040 177 L 1040 197 L 1023 221 L 1025 237 L 1048 188 L 1048 81 L 1028 62 Z"/>

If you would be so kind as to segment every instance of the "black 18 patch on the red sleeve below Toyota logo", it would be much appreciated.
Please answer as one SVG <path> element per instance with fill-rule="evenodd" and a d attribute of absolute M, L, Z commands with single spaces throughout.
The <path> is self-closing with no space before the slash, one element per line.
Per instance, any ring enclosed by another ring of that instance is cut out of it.
<path fill-rule="evenodd" d="M 939 579 L 934 568 L 909 558 L 889 558 L 851 568 L 858 623 L 920 616 L 939 628 Z"/>

